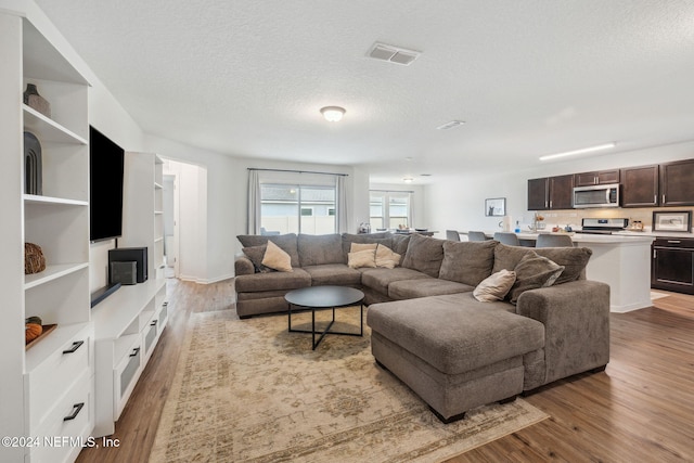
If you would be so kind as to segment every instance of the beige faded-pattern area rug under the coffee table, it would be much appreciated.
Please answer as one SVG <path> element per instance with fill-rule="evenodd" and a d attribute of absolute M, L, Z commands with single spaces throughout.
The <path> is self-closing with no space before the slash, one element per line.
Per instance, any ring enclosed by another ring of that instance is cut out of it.
<path fill-rule="evenodd" d="M 338 310 L 357 324 L 334 330 L 358 331 L 358 314 Z M 310 312 L 294 320 L 310 326 Z M 369 339 L 364 322 L 363 337 L 329 335 L 312 351 L 286 316 L 192 313 L 150 461 L 433 462 L 548 417 L 516 399 L 444 425 L 376 366 Z"/>

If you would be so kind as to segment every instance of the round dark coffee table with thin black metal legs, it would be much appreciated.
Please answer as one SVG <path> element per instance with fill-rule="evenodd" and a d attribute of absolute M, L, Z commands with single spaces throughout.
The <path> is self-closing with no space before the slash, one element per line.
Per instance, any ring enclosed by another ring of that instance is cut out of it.
<path fill-rule="evenodd" d="M 310 286 L 303 287 L 300 290 L 290 291 L 284 298 L 290 304 L 290 332 L 291 333 L 311 333 L 313 349 L 323 340 L 326 334 L 339 334 L 343 336 L 363 336 L 364 335 L 364 294 L 355 290 L 354 287 L 346 286 Z M 330 331 L 333 323 L 335 323 L 335 309 L 343 307 L 360 305 L 360 320 L 359 320 L 359 333 L 345 333 Z M 292 327 L 292 308 L 298 307 L 299 310 L 311 310 L 311 330 L 295 330 Z M 327 324 L 325 330 L 320 333 L 320 337 L 316 340 L 316 311 L 317 310 L 333 310 L 333 319 Z"/>

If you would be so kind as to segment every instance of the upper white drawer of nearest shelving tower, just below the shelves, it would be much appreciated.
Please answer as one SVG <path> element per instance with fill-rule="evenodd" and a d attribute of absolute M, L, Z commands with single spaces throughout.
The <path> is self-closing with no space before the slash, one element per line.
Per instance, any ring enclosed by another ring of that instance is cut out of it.
<path fill-rule="evenodd" d="M 77 332 L 50 357 L 24 376 L 29 400 L 29 429 L 34 430 L 67 391 L 75 378 L 91 372 L 92 327 Z M 91 376 L 91 374 L 89 374 Z"/>

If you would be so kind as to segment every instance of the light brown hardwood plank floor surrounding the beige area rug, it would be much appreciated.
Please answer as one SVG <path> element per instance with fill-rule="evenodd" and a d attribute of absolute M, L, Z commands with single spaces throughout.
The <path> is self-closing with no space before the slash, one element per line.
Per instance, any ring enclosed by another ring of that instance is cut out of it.
<path fill-rule="evenodd" d="M 191 312 L 233 309 L 233 283 L 168 280 L 170 318 L 116 424 L 118 448 L 85 449 L 78 462 L 146 462 Z M 545 386 L 525 400 L 551 417 L 458 455 L 462 462 L 694 461 L 694 296 L 611 317 L 603 373 Z"/>

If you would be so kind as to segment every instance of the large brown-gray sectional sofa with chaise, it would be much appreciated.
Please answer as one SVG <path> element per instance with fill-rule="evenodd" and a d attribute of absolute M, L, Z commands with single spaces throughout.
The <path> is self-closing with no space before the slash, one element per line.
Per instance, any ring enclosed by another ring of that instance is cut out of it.
<path fill-rule="evenodd" d="M 292 272 L 258 272 L 250 259 L 237 258 L 241 318 L 286 311 L 284 295 L 291 290 L 326 284 L 362 290 L 376 362 L 445 422 L 560 378 L 604 370 L 609 361 L 609 286 L 586 280 L 588 248 L 535 249 L 390 233 L 239 240 L 250 254 L 270 240 L 291 256 L 293 267 Z M 349 268 L 351 243 L 387 246 L 400 254 L 400 266 Z M 549 259 L 563 270 L 549 286 L 544 275 L 526 274 L 504 300 L 483 303 L 473 296 L 480 282 L 502 269 L 517 270 L 520 278 L 527 259 Z"/>

